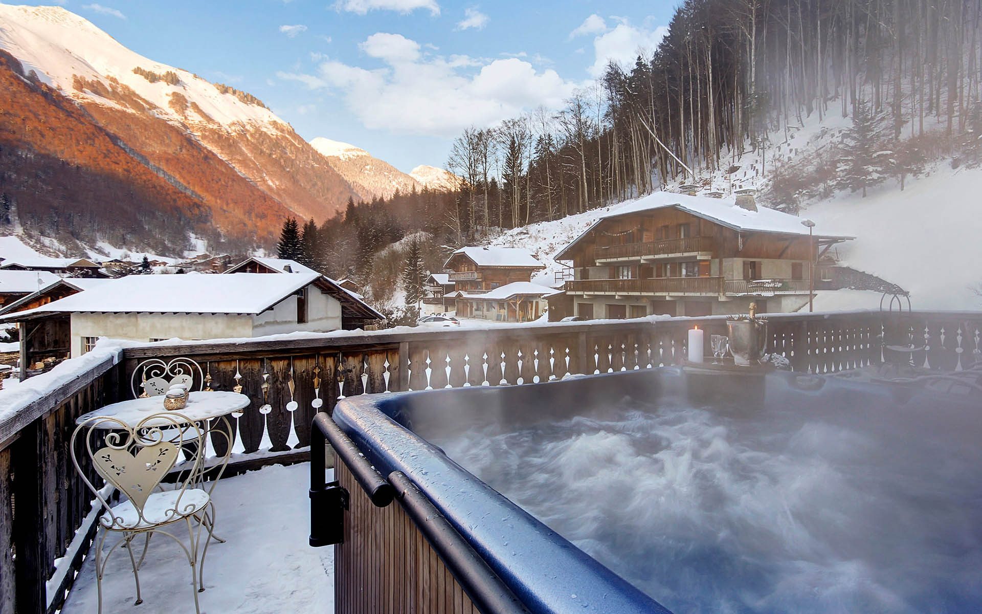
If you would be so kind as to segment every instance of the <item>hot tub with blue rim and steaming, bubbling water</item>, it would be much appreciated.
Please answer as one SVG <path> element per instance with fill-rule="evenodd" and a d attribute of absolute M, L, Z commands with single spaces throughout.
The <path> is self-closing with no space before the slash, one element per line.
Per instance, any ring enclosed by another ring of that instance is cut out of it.
<path fill-rule="evenodd" d="M 977 397 L 662 367 L 333 419 L 532 612 L 982 608 Z"/>

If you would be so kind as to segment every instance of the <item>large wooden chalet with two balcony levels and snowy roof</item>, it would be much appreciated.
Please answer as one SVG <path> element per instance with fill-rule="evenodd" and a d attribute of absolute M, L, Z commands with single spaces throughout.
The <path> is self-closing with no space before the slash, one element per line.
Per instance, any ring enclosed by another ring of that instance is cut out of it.
<path fill-rule="evenodd" d="M 574 315 L 714 315 L 795 311 L 808 304 L 814 262 L 852 237 L 809 228 L 758 207 L 752 193 L 722 198 L 656 193 L 615 208 L 556 259 Z"/>

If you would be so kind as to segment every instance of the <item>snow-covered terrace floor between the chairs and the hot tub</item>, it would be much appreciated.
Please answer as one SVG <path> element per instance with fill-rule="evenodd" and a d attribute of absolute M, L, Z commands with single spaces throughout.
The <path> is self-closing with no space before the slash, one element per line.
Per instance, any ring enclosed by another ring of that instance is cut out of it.
<path fill-rule="evenodd" d="M 198 594 L 207 614 L 279 614 L 334 611 L 334 548 L 307 545 L 310 528 L 309 464 L 271 466 L 223 479 L 215 488 L 216 532 L 204 563 L 205 590 Z M 219 529 L 220 528 L 220 529 Z M 140 568 L 141 614 L 193 611 L 188 560 L 169 539 L 151 543 Z M 102 583 L 103 612 L 133 608 L 130 559 L 117 552 Z M 94 614 L 94 557 L 87 557 L 63 614 Z"/>

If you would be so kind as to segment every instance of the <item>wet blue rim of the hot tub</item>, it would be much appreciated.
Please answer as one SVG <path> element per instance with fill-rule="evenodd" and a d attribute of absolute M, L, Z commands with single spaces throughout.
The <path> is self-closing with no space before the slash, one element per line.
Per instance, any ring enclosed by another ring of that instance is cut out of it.
<path fill-rule="evenodd" d="M 630 374 L 650 380 L 653 371 Z M 662 374 L 672 377 L 681 371 L 665 367 Z M 508 389 L 532 392 L 532 387 L 571 384 L 594 377 L 597 375 Z M 468 387 L 358 395 L 339 401 L 333 419 L 381 474 L 400 471 L 408 475 L 529 611 L 671 614 L 402 423 L 409 418 L 403 415 L 403 408 L 410 399 L 462 393 L 497 395 L 502 390 L 506 389 Z M 488 510 L 494 510 L 495 520 L 474 523 L 478 510 L 483 512 L 480 520 L 491 515 Z M 492 529 L 501 525 L 507 530 Z"/>

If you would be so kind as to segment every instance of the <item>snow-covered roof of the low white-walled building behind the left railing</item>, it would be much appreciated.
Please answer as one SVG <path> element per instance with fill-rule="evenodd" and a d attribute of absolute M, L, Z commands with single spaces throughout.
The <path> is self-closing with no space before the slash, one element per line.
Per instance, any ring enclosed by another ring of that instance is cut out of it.
<path fill-rule="evenodd" d="M 316 273 L 129 275 L 0 319 L 42 313 L 261 313 L 313 283 Z"/>

